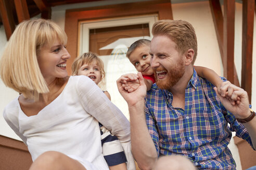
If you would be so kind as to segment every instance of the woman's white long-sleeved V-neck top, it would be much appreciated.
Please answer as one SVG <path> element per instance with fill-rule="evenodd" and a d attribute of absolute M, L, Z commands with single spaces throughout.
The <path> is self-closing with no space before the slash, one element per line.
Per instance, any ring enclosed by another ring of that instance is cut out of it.
<path fill-rule="evenodd" d="M 109 169 L 102 153 L 100 122 L 120 140 L 128 169 L 135 169 L 129 121 L 86 76 L 71 76 L 60 95 L 34 116 L 26 116 L 15 98 L 5 107 L 4 118 L 28 146 L 33 161 L 46 151 L 58 151 L 87 170 Z"/>

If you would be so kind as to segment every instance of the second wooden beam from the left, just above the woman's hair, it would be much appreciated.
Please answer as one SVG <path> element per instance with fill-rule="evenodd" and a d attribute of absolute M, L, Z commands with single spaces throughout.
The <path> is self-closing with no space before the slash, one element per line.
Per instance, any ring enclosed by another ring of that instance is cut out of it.
<path fill-rule="evenodd" d="M 21 23 L 23 20 L 30 19 L 27 1 L 14 0 L 14 3 L 15 3 L 15 8 L 16 8 L 19 23 Z"/>

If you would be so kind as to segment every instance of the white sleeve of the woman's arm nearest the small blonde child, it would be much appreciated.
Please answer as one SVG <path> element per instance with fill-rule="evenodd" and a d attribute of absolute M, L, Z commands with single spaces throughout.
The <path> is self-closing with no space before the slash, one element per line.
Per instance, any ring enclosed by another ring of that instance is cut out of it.
<path fill-rule="evenodd" d="M 131 152 L 130 122 L 94 81 L 86 76 L 79 77 L 76 90 L 83 108 L 104 125 L 111 134 L 118 137 L 128 161 L 127 169 L 135 169 Z"/>

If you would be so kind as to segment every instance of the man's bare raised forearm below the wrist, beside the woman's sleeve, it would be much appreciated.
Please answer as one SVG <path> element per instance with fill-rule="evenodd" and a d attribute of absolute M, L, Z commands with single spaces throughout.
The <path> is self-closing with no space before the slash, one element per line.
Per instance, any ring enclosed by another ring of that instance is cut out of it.
<path fill-rule="evenodd" d="M 152 169 L 157 161 L 157 151 L 149 135 L 145 114 L 144 102 L 129 107 L 131 119 L 132 152 L 141 169 Z"/>

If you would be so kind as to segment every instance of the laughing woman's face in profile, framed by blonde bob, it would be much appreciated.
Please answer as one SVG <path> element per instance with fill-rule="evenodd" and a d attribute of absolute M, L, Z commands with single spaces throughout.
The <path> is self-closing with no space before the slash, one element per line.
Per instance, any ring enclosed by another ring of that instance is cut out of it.
<path fill-rule="evenodd" d="M 46 83 L 68 76 L 66 65 L 69 58 L 66 46 L 60 44 L 57 39 L 52 46 L 45 45 L 40 49 L 37 61 Z"/>

